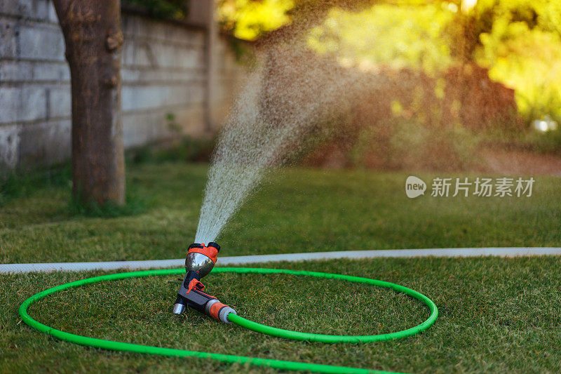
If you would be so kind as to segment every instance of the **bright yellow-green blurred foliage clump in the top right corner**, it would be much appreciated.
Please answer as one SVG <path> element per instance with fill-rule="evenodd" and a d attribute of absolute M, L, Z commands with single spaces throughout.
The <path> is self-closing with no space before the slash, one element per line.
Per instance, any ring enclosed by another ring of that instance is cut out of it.
<path fill-rule="evenodd" d="M 515 89 L 520 114 L 561 121 L 561 2 L 482 0 L 472 18 L 474 59 Z"/>

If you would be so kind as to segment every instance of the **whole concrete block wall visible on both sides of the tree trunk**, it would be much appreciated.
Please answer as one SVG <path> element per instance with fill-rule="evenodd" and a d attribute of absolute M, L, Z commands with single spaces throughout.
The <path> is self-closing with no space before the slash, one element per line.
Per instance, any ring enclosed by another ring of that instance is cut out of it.
<path fill-rule="evenodd" d="M 208 130 L 205 29 L 123 11 L 123 142 L 137 147 Z M 71 95 L 65 45 L 50 0 L 0 0 L 0 170 L 70 156 Z M 210 116 L 215 126 L 244 76 L 218 38 Z M 175 126 L 174 126 L 175 127 Z"/>

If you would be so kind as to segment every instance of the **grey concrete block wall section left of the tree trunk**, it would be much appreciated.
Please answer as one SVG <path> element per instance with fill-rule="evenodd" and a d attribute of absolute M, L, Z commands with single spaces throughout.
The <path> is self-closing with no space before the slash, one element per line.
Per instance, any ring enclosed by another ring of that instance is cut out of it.
<path fill-rule="evenodd" d="M 0 169 L 69 156 L 69 91 L 50 1 L 0 1 Z"/>

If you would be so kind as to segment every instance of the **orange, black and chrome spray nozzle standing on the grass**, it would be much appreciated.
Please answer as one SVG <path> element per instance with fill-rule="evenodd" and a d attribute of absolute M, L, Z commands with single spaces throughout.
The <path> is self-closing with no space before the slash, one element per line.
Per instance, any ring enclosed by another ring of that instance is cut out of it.
<path fill-rule="evenodd" d="M 236 314 L 236 311 L 219 302 L 214 296 L 204 293 L 205 286 L 201 283 L 201 278 L 215 267 L 219 251 L 220 246 L 212 241 L 207 246 L 204 243 L 193 243 L 189 246 L 187 258 L 185 258 L 187 274 L 181 283 L 180 290 L 177 291 L 177 299 L 173 305 L 175 314 L 182 314 L 185 306 L 188 305 L 207 316 L 230 323 L 228 314 Z"/>

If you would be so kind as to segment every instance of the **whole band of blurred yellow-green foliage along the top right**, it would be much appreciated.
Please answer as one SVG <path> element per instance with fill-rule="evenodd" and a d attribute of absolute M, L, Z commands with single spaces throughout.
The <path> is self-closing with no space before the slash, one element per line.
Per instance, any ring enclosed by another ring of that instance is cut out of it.
<path fill-rule="evenodd" d="M 250 40 L 299 23 L 314 51 L 364 70 L 475 62 L 515 90 L 528 125 L 561 123 L 559 0 L 222 0 L 219 19 Z"/>

